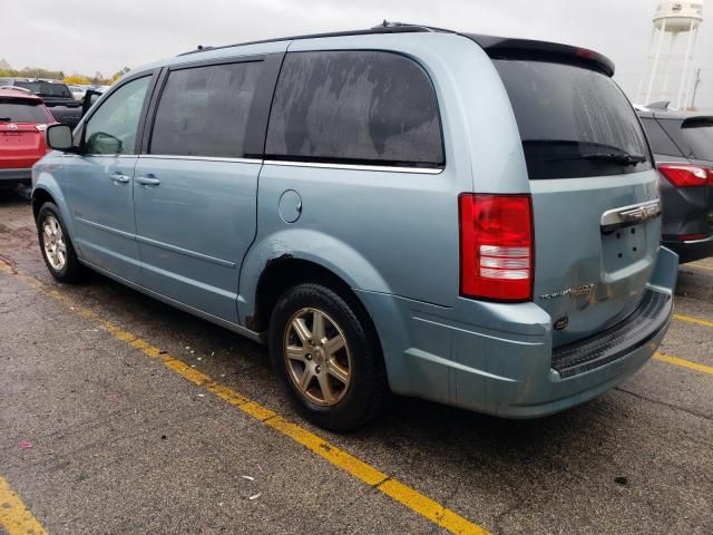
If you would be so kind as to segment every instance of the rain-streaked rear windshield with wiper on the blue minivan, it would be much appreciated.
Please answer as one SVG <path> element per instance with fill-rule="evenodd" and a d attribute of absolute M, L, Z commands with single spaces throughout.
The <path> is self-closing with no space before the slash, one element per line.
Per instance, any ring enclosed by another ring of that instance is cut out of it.
<path fill-rule="evenodd" d="M 494 60 L 515 111 L 530 179 L 652 168 L 634 108 L 606 75 L 535 60 Z"/>

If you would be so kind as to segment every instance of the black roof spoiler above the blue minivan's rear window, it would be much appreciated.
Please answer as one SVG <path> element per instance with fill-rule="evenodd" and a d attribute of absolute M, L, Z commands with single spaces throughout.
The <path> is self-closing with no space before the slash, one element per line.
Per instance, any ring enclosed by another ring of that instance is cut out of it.
<path fill-rule="evenodd" d="M 614 76 L 614 61 L 588 48 L 531 39 L 510 39 L 477 33 L 462 35 L 480 45 L 492 59 L 550 60 L 594 68 L 608 77 Z"/>

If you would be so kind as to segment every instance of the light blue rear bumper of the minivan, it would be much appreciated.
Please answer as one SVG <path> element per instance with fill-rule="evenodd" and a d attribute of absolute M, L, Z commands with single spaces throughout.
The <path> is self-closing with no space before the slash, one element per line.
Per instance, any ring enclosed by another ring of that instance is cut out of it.
<path fill-rule="evenodd" d="M 447 309 L 369 292 L 360 296 L 374 315 L 397 393 L 500 417 L 536 418 L 587 401 L 646 363 L 668 328 L 676 274 L 676 255 L 661 249 L 646 289 L 661 296 L 655 319 L 642 332 L 615 333 L 621 323 L 600 333 L 609 346 L 626 335 L 607 354 L 596 352 L 602 349 L 596 340 L 585 341 L 578 360 L 595 364 L 574 373 L 553 367 L 560 351 L 553 351 L 553 320 L 535 303 L 459 300 Z"/>

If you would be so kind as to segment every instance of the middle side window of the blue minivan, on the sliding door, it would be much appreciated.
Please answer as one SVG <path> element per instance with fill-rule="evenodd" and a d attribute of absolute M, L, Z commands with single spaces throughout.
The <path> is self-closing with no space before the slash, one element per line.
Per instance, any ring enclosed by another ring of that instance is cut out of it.
<path fill-rule="evenodd" d="M 150 154 L 245 156 L 248 117 L 263 61 L 212 65 L 168 75 Z"/>

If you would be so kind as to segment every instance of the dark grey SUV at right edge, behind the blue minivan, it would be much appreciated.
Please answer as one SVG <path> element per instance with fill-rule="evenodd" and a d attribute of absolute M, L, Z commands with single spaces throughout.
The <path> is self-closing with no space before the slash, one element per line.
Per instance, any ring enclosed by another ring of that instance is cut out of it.
<path fill-rule="evenodd" d="M 637 109 L 661 172 L 663 244 L 681 263 L 713 255 L 713 116 Z"/>

